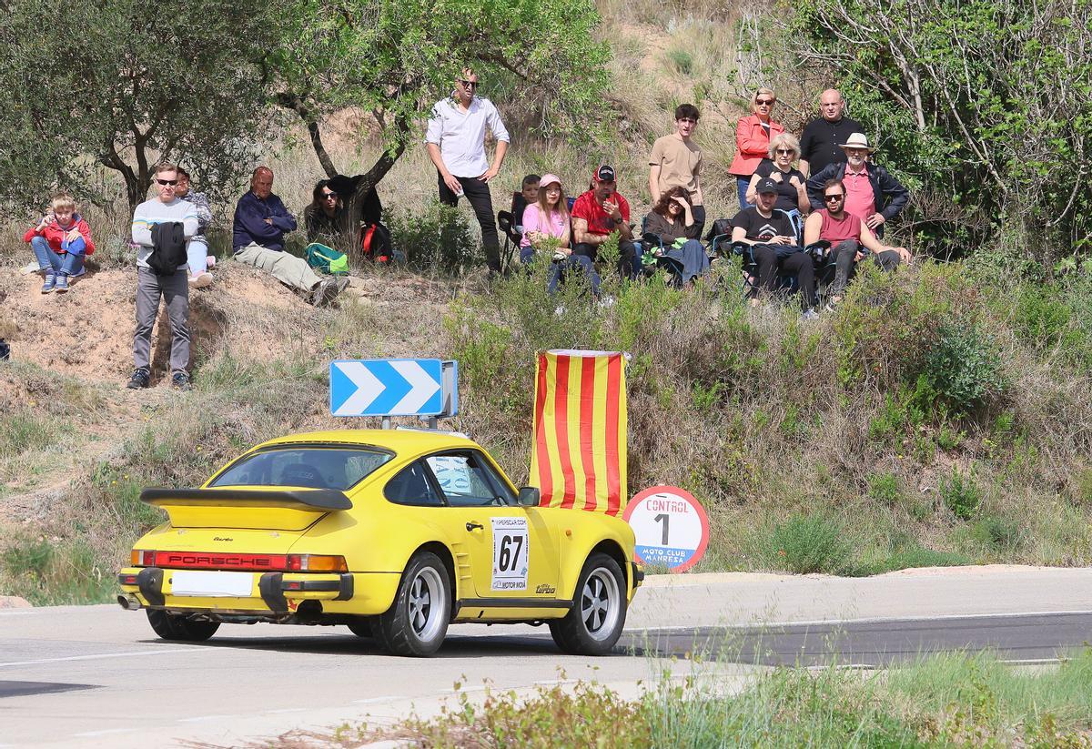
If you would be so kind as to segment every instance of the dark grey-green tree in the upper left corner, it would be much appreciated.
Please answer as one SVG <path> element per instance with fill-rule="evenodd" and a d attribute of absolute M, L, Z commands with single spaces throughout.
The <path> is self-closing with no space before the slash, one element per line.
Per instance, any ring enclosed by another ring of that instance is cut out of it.
<path fill-rule="evenodd" d="M 0 0 L 0 200 L 64 187 L 105 202 L 93 176 L 106 167 L 133 207 L 167 159 L 214 194 L 234 189 L 268 118 L 269 13 L 261 0 Z"/>

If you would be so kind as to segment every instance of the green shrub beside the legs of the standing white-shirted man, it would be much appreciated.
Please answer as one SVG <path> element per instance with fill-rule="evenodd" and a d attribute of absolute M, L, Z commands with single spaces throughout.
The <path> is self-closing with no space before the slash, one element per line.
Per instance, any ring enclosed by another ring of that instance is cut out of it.
<path fill-rule="evenodd" d="M 438 200 L 429 203 L 424 213 L 392 212 L 388 226 L 394 249 L 405 252 L 416 271 L 458 274 L 479 258 L 477 242 L 459 209 Z"/>

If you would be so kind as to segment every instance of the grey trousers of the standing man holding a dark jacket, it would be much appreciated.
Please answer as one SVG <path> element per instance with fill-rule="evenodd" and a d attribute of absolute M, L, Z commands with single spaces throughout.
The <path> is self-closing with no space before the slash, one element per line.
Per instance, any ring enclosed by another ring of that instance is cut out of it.
<path fill-rule="evenodd" d="M 150 268 L 136 269 L 136 333 L 133 364 L 149 369 L 152 360 L 152 328 L 159 313 L 159 297 L 170 319 L 170 371 L 186 371 L 190 364 L 190 286 L 185 270 L 156 275 Z"/>

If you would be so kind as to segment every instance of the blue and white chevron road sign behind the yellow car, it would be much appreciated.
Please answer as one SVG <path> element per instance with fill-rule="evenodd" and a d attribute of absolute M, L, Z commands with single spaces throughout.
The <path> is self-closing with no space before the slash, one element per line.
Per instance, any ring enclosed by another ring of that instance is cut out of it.
<path fill-rule="evenodd" d="M 454 416 L 458 368 L 441 359 L 330 362 L 334 416 Z"/>

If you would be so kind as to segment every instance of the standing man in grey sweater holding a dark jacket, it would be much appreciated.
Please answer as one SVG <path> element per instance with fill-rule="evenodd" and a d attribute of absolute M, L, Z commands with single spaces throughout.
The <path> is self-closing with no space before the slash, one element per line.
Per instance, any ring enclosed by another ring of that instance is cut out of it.
<path fill-rule="evenodd" d="M 133 335 L 133 364 L 128 388 L 147 388 L 152 380 L 150 370 L 152 328 L 159 311 L 159 298 L 167 305 L 170 318 L 170 384 L 180 390 L 190 389 L 186 367 L 190 362 L 190 287 L 187 283 L 189 266 L 183 262 L 171 275 L 156 275 L 147 263 L 154 240 L 152 227 L 156 224 L 177 222 L 182 225 L 187 246 L 198 233 L 198 212 L 193 203 L 175 195 L 178 167 L 164 163 L 155 169 L 153 187 L 156 198 L 144 201 L 133 213 L 132 237 L 136 250 L 136 333 Z"/>

